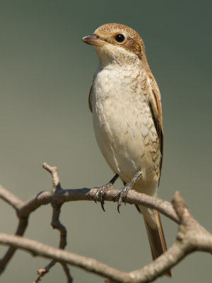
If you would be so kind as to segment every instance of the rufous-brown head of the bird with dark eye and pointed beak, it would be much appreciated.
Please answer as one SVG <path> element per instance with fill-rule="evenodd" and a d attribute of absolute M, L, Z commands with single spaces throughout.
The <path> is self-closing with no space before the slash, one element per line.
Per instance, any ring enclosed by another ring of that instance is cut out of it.
<path fill-rule="evenodd" d="M 126 25 L 107 23 L 82 40 L 95 46 L 102 67 L 108 64 L 147 64 L 142 38 Z"/>

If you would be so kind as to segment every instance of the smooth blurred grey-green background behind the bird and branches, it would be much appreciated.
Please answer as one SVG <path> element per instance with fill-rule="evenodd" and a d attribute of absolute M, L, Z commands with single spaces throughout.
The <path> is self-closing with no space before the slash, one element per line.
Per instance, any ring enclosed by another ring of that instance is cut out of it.
<path fill-rule="evenodd" d="M 143 37 L 162 94 L 165 148 L 159 197 L 176 190 L 211 231 L 211 1 L 0 1 L 0 183 L 22 200 L 50 190 L 42 163 L 59 168 L 64 188 L 95 187 L 112 178 L 93 134 L 88 93 L 98 65 L 81 37 L 105 23 L 123 23 Z M 115 187 L 122 184 L 117 183 Z M 64 204 L 67 250 L 124 271 L 151 262 L 142 216 L 134 206 Z M 50 205 L 31 214 L 25 236 L 57 247 Z M 17 219 L 0 200 L 1 231 Z M 167 244 L 177 225 L 163 217 Z M 3 255 L 5 247 L 0 247 Z M 1 257 L 0 255 L 0 257 Z M 1 282 L 33 282 L 49 260 L 18 251 Z M 71 267 L 74 282 L 103 279 Z M 58 264 L 42 282 L 66 282 Z M 158 279 L 170 282 L 170 279 Z M 211 282 L 211 255 L 194 253 L 173 268 L 172 283 Z"/>

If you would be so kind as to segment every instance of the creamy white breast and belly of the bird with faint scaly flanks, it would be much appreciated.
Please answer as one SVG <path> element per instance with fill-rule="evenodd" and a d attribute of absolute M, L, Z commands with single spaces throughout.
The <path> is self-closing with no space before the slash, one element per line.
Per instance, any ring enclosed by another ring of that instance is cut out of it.
<path fill-rule="evenodd" d="M 142 171 L 139 190 L 148 182 L 158 182 L 152 161 L 158 136 L 142 77 L 134 69 L 105 68 L 97 70 L 93 81 L 93 126 L 100 150 L 124 182 Z"/>

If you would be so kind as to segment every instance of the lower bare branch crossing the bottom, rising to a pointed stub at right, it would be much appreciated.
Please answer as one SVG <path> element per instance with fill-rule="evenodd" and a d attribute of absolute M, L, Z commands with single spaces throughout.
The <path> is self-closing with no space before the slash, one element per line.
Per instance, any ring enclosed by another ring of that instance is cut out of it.
<path fill-rule="evenodd" d="M 76 265 L 89 272 L 93 272 L 102 277 L 107 277 L 107 279 L 110 279 L 112 282 L 151 282 L 162 275 L 165 270 L 173 267 L 186 255 L 195 250 L 212 253 L 211 233 L 206 231 L 206 229 L 200 226 L 200 224 L 192 218 L 182 197 L 180 197 L 179 192 L 175 193 L 173 205 L 180 219 L 179 232 L 177 233 L 175 243 L 173 243 L 166 253 L 141 268 L 141 270 L 135 270 L 129 273 L 115 270 L 92 258 L 68 253 L 64 250 L 52 248 L 27 238 L 0 233 L 0 243 L 28 250 L 30 253 L 33 253 L 33 255 L 41 255 L 45 258 L 53 258 L 54 260 L 60 260 L 71 265 Z"/>

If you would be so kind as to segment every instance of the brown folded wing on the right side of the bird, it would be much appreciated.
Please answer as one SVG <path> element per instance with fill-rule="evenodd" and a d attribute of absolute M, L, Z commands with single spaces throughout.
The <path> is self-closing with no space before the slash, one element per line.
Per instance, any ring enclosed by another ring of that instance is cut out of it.
<path fill-rule="evenodd" d="M 161 161 L 160 161 L 160 170 L 162 167 L 163 161 L 163 117 L 162 117 L 162 108 L 161 108 L 161 96 L 158 88 L 158 84 L 155 81 L 155 78 L 152 74 L 148 74 L 147 78 L 148 88 L 149 88 L 149 106 L 151 108 L 153 121 L 155 123 L 155 128 L 158 133 L 158 139 L 160 142 L 160 152 L 161 152 Z"/>

